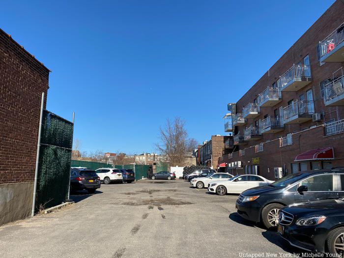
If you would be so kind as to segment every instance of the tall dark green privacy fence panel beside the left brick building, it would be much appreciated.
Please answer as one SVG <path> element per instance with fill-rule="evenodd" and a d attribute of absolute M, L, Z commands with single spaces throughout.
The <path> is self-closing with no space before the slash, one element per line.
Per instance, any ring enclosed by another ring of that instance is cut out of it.
<path fill-rule="evenodd" d="M 43 111 L 35 210 L 68 198 L 73 123 Z"/>

